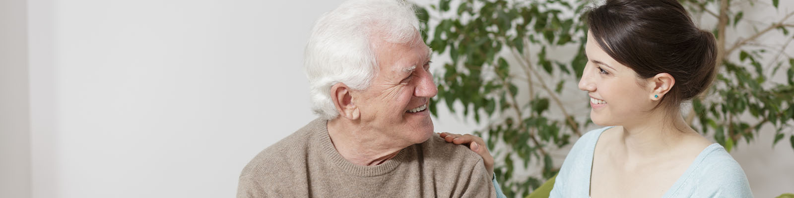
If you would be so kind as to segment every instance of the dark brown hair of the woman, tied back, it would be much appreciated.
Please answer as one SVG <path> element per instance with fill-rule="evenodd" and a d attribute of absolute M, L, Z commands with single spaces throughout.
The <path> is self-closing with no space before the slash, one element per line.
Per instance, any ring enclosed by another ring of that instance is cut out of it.
<path fill-rule="evenodd" d="M 586 17 L 599 46 L 638 78 L 668 73 L 676 79 L 657 108 L 677 110 L 681 101 L 711 85 L 717 58 L 714 35 L 699 29 L 676 0 L 607 0 Z"/>

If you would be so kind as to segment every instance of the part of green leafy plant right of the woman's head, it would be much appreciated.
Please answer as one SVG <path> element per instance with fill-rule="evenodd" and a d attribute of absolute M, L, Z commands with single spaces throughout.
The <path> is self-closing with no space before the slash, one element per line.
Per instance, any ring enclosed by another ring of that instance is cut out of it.
<path fill-rule="evenodd" d="M 788 29 L 794 27 L 792 15 L 794 12 L 785 13 L 783 17 L 772 22 L 762 22 L 744 18 L 741 6 L 750 6 L 747 10 L 773 6 L 778 10 L 778 1 L 743 1 L 731 2 L 728 0 L 688 0 L 683 2 L 692 13 L 700 17 L 717 19 L 717 24 L 711 27 L 717 36 L 719 48 L 717 67 L 719 73 L 714 85 L 707 92 L 707 97 L 692 101 L 692 111 L 686 116 L 692 124 L 698 119 L 700 131 L 713 132 L 717 143 L 722 144 L 730 151 L 738 141 L 744 139 L 751 143 L 760 128 L 771 124 L 775 129 L 775 139 L 772 145 L 777 144 L 788 135 L 794 147 L 792 135 L 792 116 L 794 116 L 794 57 L 785 53 L 785 48 L 792 43 L 794 36 Z M 750 5 L 742 5 L 750 4 Z M 707 9 L 716 6 L 719 10 Z M 781 10 L 778 10 L 781 11 Z M 754 29 L 754 33 L 746 38 L 727 41 L 727 36 L 735 34 L 741 29 L 738 25 L 746 25 Z M 709 29 L 709 27 L 704 27 Z M 784 41 L 762 42 L 758 39 L 769 36 L 773 32 L 780 32 Z M 762 61 L 767 63 L 762 63 Z M 782 73 L 778 73 L 781 72 Z M 785 75 L 785 82 L 774 82 L 770 78 L 776 75 Z M 751 117 L 752 119 L 742 119 Z M 751 122 L 754 121 L 754 122 Z M 784 132 L 787 131 L 787 132 Z"/>

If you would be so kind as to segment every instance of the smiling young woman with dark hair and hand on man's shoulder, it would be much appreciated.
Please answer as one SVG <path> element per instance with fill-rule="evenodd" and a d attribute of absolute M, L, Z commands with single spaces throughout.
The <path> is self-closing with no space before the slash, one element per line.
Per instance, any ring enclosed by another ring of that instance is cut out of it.
<path fill-rule="evenodd" d="M 714 78 L 711 32 L 676 0 L 607 0 L 586 17 L 579 88 L 590 96 L 593 123 L 613 127 L 577 140 L 551 197 L 752 197 L 742 167 L 680 114 L 681 102 Z M 442 136 L 484 148 L 470 135 Z"/>

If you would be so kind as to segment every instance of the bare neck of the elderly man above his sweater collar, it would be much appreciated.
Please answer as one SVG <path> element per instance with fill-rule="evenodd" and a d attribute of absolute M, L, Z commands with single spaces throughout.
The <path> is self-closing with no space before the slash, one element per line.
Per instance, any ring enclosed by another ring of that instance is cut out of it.
<path fill-rule="evenodd" d="M 333 147 L 343 158 L 359 166 L 380 165 L 410 146 L 396 143 L 366 128 L 355 127 L 354 123 L 341 118 L 328 120 L 327 126 Z"/>

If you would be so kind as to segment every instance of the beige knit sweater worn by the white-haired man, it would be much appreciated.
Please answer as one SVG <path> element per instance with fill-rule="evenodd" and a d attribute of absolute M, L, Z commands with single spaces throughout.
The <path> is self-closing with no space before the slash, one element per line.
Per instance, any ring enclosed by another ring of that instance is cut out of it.
<path fill-rule="evenodd" d="M 245 166 L 237 197 L 496 197 L 483 159 L 433 135 L 378 166 L 357 166 L 314 120 Z"/>

